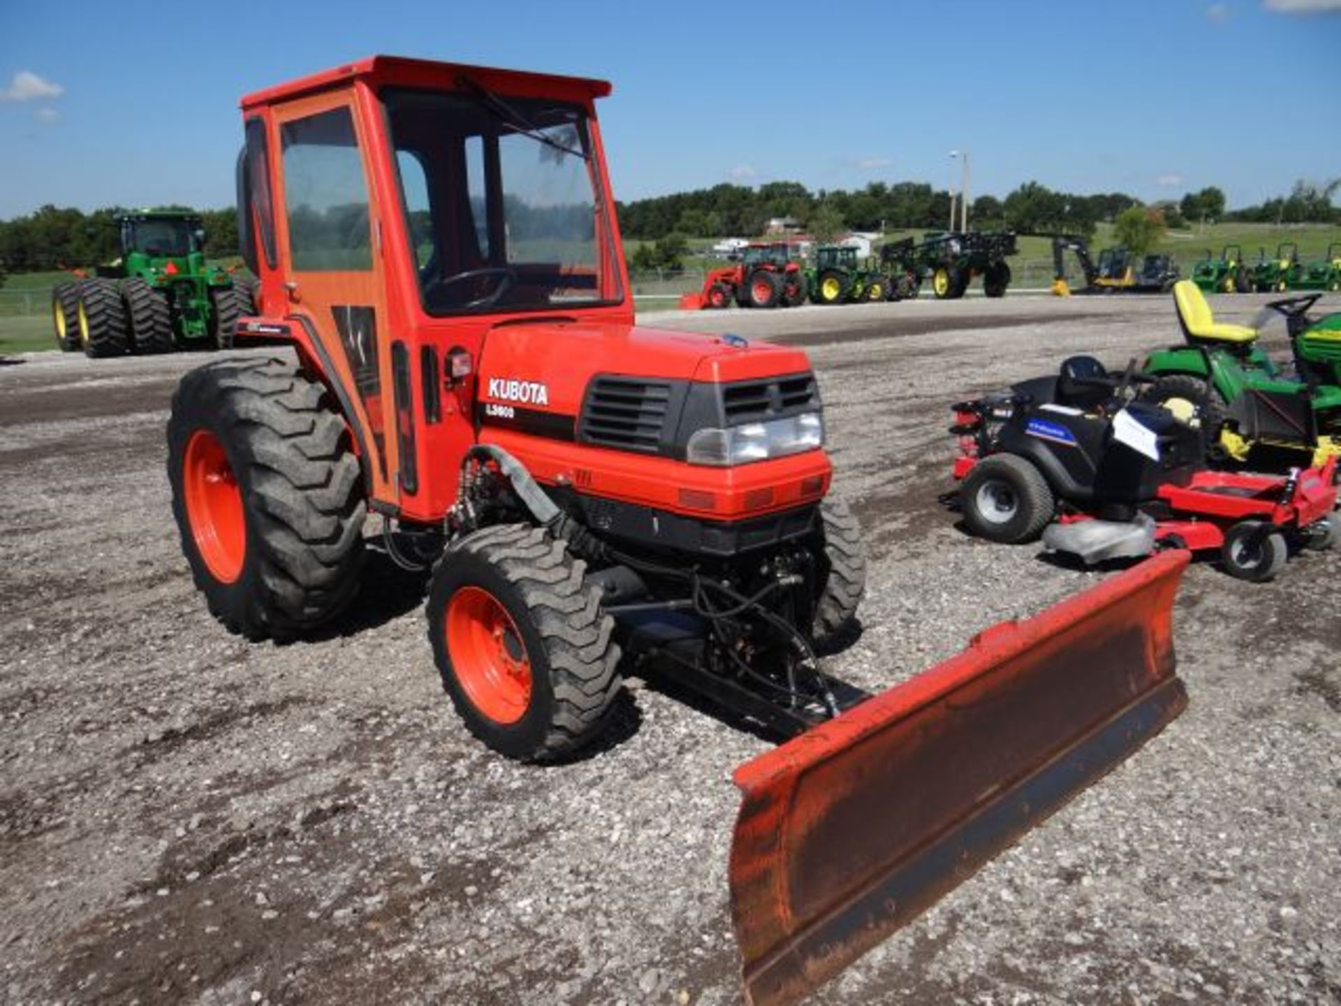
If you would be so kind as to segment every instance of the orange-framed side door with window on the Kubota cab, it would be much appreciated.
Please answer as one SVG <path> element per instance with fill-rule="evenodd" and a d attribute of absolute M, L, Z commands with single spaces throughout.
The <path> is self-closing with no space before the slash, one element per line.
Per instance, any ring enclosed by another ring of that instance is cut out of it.
<path fill-rule="evenodd" d="M 370 495 L 400 503 L 381 207 L 354 93 L 275 109 L 280 274 L 290 318 L 308 329 L 353 412 Z"/>

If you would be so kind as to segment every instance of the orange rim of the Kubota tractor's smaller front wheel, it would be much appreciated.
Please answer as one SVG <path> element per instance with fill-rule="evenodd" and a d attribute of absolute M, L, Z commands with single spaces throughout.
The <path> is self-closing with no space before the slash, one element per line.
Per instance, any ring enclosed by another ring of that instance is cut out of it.
<path fill-rule="evenodd" d="M 447 605 L 447 653 L 471 704 L 495 723 L 516 723 L 531 704 L 531 660 L 512 616 L 484 588 L 461 588 Z"/>

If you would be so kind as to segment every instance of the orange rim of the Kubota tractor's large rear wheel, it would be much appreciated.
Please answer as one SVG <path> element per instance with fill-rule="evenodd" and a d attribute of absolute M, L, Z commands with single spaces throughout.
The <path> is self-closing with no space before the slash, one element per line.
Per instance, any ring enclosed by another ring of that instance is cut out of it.
<path fill-rule="evenodd" d="M 208 429 L 197 429 L 186 441 L 182 490 L 200 558 L 216 579 L 232 583 L 247 558 L 243 492 L 223 443 Z"/>

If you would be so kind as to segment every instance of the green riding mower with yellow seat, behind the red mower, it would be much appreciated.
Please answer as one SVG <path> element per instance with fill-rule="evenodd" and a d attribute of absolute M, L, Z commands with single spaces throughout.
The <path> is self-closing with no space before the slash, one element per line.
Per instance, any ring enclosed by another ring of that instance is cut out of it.
<path fill-rule="evenodd" d="M 1141 392 L 1198 425 L 1212 461 L 1275 469 L 1322 464 L 1341 455 L 1341 314 L 1309 315 L 1321 294 L 1274 300 L 1252 325 L 1215 321 L 1202 291 L 1173 288 L 1184 343 L 1152 353 Z M 1262 347 L 1285 326 L 1289 364 Z"/>

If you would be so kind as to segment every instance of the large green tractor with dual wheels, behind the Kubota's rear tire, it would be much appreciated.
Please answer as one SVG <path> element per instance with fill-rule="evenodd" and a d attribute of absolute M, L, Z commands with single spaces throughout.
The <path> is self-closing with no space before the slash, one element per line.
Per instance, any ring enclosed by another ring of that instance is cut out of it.
<path fill-rule="evenodd" d="M 252 287 L 205 263 L 200 217 L 145 211 L 117 223 L 121 258 L 51 291 L 56 345 L 90 357 L 231 346 Z"/>

